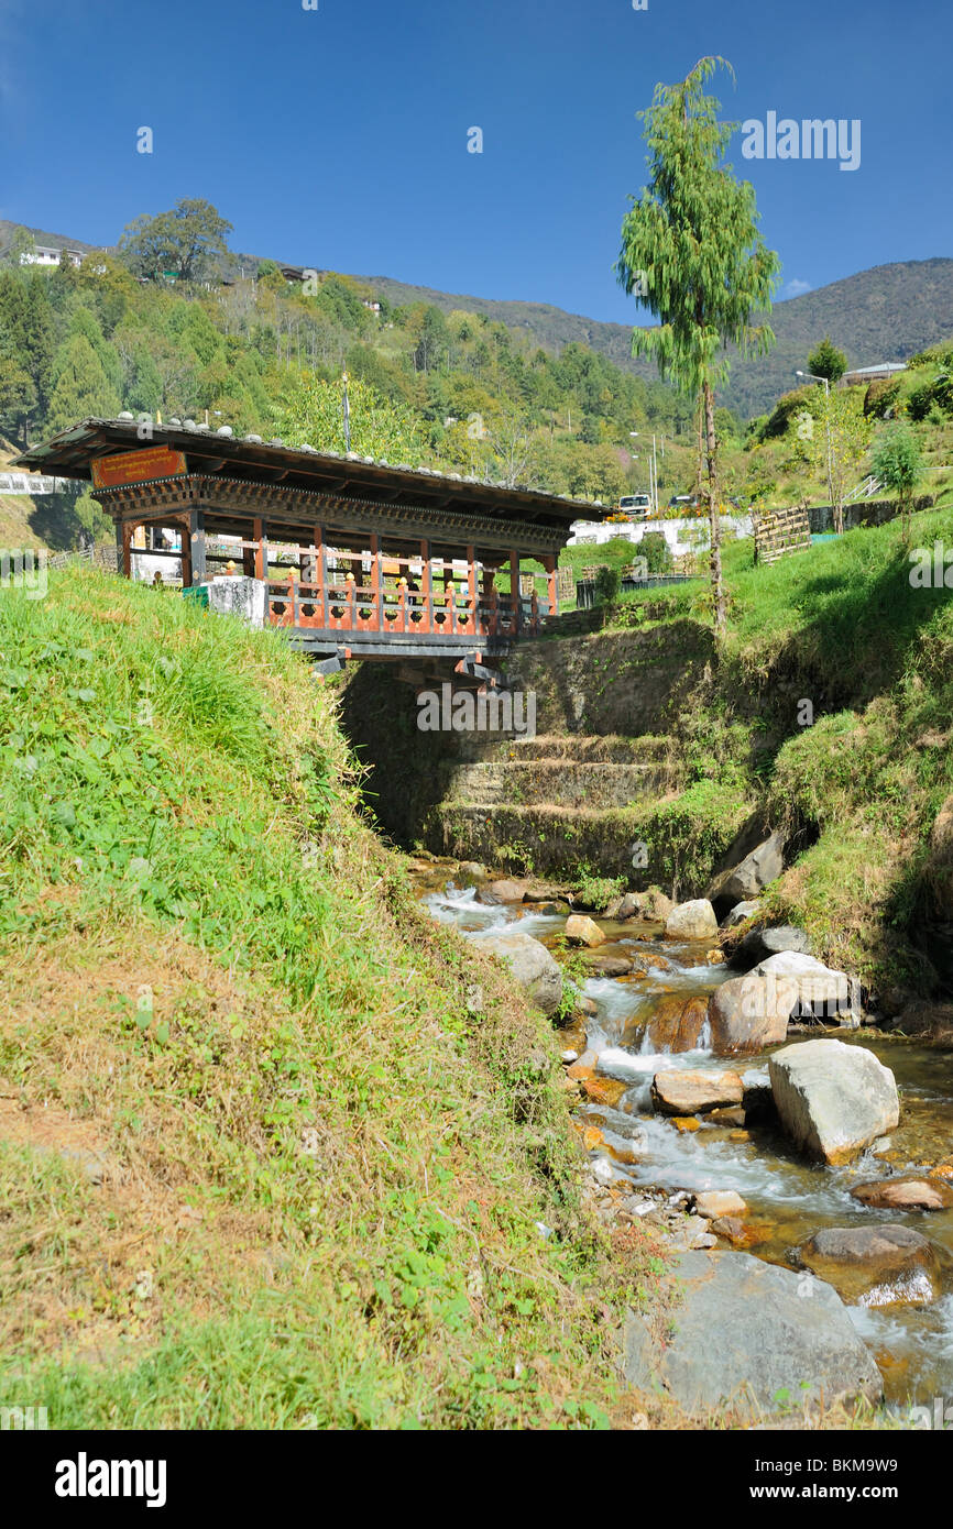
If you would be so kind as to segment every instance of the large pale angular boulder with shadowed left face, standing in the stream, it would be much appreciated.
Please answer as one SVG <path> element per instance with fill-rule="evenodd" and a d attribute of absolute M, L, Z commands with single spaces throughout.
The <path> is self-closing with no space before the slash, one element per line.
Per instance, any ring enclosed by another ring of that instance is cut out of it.
<path fill-rule="evenodd" d="M 863 1046 L 817 1040 L 768 1061 L 782 1127 L 818 1162 L 851 1162 L 899 1122 L 896 1081 Z"/>

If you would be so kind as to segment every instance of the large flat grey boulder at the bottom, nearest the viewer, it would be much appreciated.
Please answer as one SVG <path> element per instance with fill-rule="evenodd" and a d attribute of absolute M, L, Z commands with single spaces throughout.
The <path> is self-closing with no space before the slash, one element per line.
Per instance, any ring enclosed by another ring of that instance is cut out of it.
<path fill-rule="evenodd" d="M 772 1413 L 777 1396 L 825 1404 L 883 1393 L 880 1372 L 837 1290 L 745 1252 L 685 1252 L 664 1277 L 672 1324 L 629 1312 L 624 1373 L 647 1394 L 662 1390 L 684 1411 L 730 1402 Z"/>

